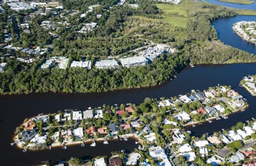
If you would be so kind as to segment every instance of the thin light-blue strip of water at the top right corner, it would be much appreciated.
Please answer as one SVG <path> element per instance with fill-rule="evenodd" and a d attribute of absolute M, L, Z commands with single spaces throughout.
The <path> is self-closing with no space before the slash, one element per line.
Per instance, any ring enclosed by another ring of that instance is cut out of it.
<path fill-rule="evenodd" d="M 236 9 L 256 10 L 256 3 L 249 4 L 249 5 L 243 5 L 243 4 L 238 4 L 238 3 L 221 2 L 221 1 L 218 1 L 218 0 L 204 0 L 204 1 L 215 4 L 215 5 L 220 5 L 220 6 L 225 6 L 225 7 L 232 7 L 232 8 L 236 8 Z"/>

